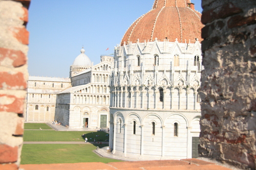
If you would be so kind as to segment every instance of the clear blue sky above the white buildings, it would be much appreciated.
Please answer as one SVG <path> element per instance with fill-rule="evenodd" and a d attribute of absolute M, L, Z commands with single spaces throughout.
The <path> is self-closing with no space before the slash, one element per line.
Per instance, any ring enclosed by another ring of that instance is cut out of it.
<path fill-rule="evenodd" d="M 201 0 L 191 0 L 202 12 Z M 114 53 L 126 30 L 154 0 L 32 0 L 29 7 L 29 76 L 69 77 L 84 47 L 94 65 Z M 108 49 L 109 50 L 106 50 Z"/>

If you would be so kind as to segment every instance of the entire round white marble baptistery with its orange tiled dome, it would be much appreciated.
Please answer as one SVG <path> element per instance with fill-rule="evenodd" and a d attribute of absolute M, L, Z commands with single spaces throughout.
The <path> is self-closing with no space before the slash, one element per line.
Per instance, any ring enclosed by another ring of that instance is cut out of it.
<path fill-rule="evenodd" d="M 144 160 L 198 156 L 200 19 L 190 0 L 155 0 L 115 46 L 113 154 Z"/>

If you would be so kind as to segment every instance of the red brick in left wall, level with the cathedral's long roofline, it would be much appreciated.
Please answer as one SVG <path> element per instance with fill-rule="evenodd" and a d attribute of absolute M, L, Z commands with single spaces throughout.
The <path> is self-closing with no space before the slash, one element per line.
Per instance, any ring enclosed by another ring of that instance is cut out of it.
<path fill-rule="evenodd" d="M 27 88 L 27 82 L 24 79 L 22 72 L 17 72 L 16 74 L 10 74 L 8 72 L 0 72 L 0 89 L 3 88 L 3 84 L 6 84 L 7 89 L 22 89 Z"/>

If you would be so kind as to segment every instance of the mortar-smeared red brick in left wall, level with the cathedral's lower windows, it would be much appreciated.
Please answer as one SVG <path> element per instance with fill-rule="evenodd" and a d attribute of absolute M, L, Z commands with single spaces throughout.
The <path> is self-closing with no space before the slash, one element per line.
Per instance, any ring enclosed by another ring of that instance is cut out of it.
<path fill-rule="evenodd" d="M 16 98 L 15 95 L 0 94 L 0 98 L 7 97 L 12 98 L 14 101 L 11 104 L 0 105 L 0 111 L 23 113 L 24 98 Z"/>

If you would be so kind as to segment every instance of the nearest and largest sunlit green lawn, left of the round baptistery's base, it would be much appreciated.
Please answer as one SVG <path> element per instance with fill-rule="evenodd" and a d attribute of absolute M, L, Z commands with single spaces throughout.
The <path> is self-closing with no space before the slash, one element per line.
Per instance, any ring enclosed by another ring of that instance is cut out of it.
<path fill-rule="evenodd" d="M 95 149 L 93 144 L 23 144 L 21 164 L 120 161 L 99 157 Z"/>

